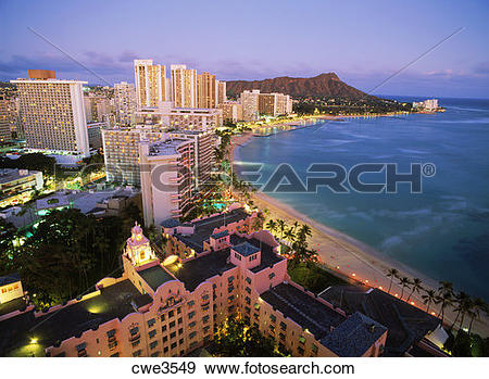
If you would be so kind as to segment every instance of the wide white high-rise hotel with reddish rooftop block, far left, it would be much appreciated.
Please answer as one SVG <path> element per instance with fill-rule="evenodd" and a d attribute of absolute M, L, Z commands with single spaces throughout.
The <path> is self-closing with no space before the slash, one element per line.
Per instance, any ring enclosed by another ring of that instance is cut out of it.
<path fill-rule="evenodd" d="M 89 152 L 83 85 L 59 80 L 54 72 L 29 70 L 17 86 L 20 117 L 27 147 L 36 150 L 87 155 Z"/>

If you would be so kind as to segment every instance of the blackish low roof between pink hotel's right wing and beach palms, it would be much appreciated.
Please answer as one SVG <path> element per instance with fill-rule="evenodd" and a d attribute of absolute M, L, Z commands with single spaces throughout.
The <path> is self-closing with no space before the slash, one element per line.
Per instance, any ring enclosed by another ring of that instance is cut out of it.
<path fill-rule="evenodd" d="M 440 324 L 437 317 L 379 289 L 334 286 L 321 298 L 340 306 L 348 314 L 361 312 L 389 330 L 387 356 L 402 356 L 417 341 Z"/>

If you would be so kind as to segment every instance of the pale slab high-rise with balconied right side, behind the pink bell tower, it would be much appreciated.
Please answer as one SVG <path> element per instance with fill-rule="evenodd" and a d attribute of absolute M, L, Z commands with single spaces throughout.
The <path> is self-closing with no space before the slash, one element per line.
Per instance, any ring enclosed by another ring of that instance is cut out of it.
<path fill-rule="evenodd" d="M 141 141 L 139 159 L 145 225 L 187 214 L 196 182 L 193 141 Z"/>

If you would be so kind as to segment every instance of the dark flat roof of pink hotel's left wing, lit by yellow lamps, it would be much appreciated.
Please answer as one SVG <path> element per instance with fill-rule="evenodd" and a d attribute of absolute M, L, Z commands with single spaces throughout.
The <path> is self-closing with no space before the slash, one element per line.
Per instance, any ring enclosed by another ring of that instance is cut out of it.
<path fill-rule="evenodd" d="M 40 317 L 36 318 L 30 311 L 0 321 L 0 355 L 25 356 L 32 338 L 37 340 L 35 354 L 43 355 L 43 350 L 57 341 L 80 336 L 85 330 L 136 312 L 131 303 L 139 295 L 130 280 L 124 280 L 101 289 L 93 298 Z"/>

